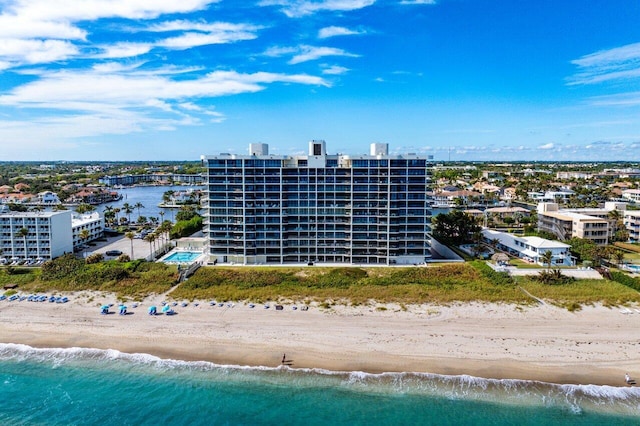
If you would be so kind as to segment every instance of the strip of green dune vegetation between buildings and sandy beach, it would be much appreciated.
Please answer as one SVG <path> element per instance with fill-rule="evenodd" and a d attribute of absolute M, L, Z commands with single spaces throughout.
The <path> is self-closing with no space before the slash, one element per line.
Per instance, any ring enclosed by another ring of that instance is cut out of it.
<path fill-rule="evenodd" d="M 139 300 L 168 293 L 175 300 L 311 301 L 359 305 L 456 302 L 545 303 L 579 309 L 640 302 L 640 280 L 540 280 L 495 272 L 481 261 L 428 267 L 203 267 L 177 285 L 175 266 L 144 261 L 95 264 L 64 256 L 40 269 L 0 272 L 0 285 L 18 284 L 22 292 L 112 292 Z M 634 287 L 636 286 L 636 287 Z M 532 297 L 533 296 L 533 297 Z"/>

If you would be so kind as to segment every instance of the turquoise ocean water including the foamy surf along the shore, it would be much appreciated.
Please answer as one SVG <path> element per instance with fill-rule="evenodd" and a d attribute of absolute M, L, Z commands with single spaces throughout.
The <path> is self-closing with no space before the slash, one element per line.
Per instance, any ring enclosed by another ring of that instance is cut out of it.
<path fill-rule="evenodd" d="M 0 344 L 0 383 L 2 425 L 640 422 L 640 388 L 222 366 L 16 344 Z"/>

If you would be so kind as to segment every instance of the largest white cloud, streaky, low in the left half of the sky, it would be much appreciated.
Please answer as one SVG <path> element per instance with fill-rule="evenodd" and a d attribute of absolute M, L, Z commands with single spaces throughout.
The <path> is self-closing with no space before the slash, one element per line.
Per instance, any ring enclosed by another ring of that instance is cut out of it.
<path fill-rule="evenodd" d="M 138 65 L 110 63 L 84 71 L 63 70 L 13 89 L 0 96 L 1 106 L 43 109 L 55 115 L 34 117 L 29 122 L 0 121 L 0 139 L 19 140 L 30 147 L 46 140 L 53 146 L 69 138 L 173 130 L 202 124 L 202 118 L 220 123 L 224 114 L 198 103 L 258 92 L 269 84 L 329 86 L 320 77 L 267 72 L 216 71 L 199 78 L 172 80 L 170 76 L 181 69 L 167 67 L 153 74 L 138 70 Z"/>

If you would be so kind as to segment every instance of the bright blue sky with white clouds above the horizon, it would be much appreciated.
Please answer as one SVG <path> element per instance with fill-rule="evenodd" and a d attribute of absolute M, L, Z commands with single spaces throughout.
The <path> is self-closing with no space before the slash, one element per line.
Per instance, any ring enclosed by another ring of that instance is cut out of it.
<path fill-rule="evenodd" d="M 0 161 L 640 161 L 635 0 L 0 0 Z"/>

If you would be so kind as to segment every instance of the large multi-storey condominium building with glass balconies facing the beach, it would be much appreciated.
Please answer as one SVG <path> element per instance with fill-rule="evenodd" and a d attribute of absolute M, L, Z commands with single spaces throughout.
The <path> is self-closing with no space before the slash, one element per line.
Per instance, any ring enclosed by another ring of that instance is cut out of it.
<path fill-rule="evenodd" d="M 203 157 L 207 167 L 205 232 L 210 263 L 415 264 L 431 256 L 427 159 L 309 154 Z"/>

